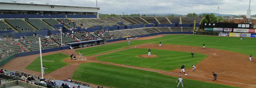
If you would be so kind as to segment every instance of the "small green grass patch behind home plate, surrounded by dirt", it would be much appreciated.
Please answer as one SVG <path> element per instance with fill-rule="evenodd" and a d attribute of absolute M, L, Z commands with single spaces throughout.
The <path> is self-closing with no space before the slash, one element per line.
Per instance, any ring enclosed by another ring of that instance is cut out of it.
<path fill-rule="evenodd" d="M 44 72 L 50 73 L 54 70 L 57 70 L 61 67 L 68 65 L 69 63 L 63 62 L 63 60 L 66 58 L 69 58 L 69 56 L 66 54 L 62 54 L 62 53 L 55 53 L 55 54 L 42 56 L 43 66 L 45 66 L 45 68 L 47 68 L 44 70 Z M 48 61 L 44 62 L 44 60 L 50 60 L 50 61 L 54 61 L 54 62 L 48 62 Z M 40 57 L 38 57 L 32 63 L 30 63 L 25 69 L 41 72 L 40 63 L 41 63 Z"/>

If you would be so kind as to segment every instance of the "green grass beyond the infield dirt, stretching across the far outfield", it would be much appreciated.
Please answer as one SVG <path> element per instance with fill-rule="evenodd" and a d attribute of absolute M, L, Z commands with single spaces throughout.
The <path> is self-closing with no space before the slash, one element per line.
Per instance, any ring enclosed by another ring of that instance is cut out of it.
<path fill-rule="evenodd" d="M 175 45 L 188 45 L 202 47 L 203 43 L 205 48 L 216 48 L 227 51 L 238 52 L 246 55 L 256 55 L 255 38 L 243 38 L 240 40 L 238 37 L 219 37 L 219 36 L 200 36 L 200 35 L 165 35 L 161 38 L 150 40 L 132 40 L 131 44 L 128 42 L 121 42 L 98 47 L 91 47 L 86 49 L 79 49 L 76 52 L 82 52 L 84 56 L 93 56 L 104 52 L 110 52 L 118 49 L 123 49 L 129 46 L 135 46 L 145 43 L 158 44 L 175 44 Z"/>

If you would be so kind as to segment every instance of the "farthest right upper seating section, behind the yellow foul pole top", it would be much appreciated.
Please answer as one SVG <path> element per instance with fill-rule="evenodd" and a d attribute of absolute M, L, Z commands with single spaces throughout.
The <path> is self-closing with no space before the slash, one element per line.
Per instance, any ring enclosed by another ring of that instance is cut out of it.
<path fill-rule="evenodd" d="M 191 24 L 194 23 L 194 20 L 196 20 L 196 23 L 200 23 L 203 17 L 182 17 L 182 24 Z"/>

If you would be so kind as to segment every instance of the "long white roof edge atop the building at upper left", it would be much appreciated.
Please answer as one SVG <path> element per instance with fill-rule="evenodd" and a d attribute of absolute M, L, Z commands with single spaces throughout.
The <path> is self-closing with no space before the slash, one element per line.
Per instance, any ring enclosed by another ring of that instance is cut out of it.
<path fill-rule="evenodd" d="M 0 2 L 0 4 L 23 4 L 23 5 L 45 5 L 45 6 L 63 6 L 63 7 L 84 7 L 84 8 L 100 8 L 100 7 L 86 7 L 86 6 L 67 6 L 67 5 L 51 5 L 51 4 L 35 4 L 35 3 L 17 3 L 17 2 Z"/>

